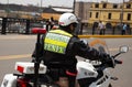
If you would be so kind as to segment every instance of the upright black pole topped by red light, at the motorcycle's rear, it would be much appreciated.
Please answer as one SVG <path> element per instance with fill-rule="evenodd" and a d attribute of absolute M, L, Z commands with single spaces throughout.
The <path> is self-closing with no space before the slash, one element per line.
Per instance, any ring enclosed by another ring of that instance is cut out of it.
<path fill-rule="evenodd" d="M 41 34 L 45 34 L 46 30 L 45 29 L 41 29 L 41 28 L 34 28 L 32 29 L 32 33 L 33 34 L 37 34 L 36 37 L 36 44 L 35 44 L 35 50 L 36 50 L 36 57 L 35 57 L 35 63 L 34 63 L 34 87 L 38 87 L 37 86 L 37 79 L 38 79 L 38 68 L 40 68 L 40 47 L 41 47 Z"/>

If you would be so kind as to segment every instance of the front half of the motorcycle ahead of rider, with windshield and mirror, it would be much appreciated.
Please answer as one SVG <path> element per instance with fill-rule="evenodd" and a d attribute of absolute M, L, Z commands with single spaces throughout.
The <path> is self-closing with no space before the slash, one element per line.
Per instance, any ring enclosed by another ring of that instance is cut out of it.
<path fill-rule="evenodd" d="M 89 45 L 102 53 L 109 53 L 107 43 L 99 39 L 91 39 Z M 120 54 L 127 53 L 128 46 L 120 46 L 119 53 L 111 55 L 111 62 L 89 61 L 85 59 L 77 64 L 77 80 L 80 87 L 112 87 L 111 80 L 117 80 L 118 77 L 111 76 L 111 69 L 117 64 L 122 64 L 122 61 L 116 59 Z"/>

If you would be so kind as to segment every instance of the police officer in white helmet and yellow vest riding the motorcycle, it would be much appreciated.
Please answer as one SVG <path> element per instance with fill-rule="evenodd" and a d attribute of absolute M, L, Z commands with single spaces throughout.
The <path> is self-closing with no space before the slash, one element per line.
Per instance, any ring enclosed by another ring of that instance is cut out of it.
<path fill-rule="evenodd" d="M 77 18 L 73 13 L 64 13 L 58 20 L 59 29 L 48 31 L 42 42 L 40 57 L 51 69 L 50 76 L 58 80 L 59 76 L 66 76 L 69 80 L 69 87 L 75 87 L 76 55 L 88 57 L 89 59 L 103 59 L 107 54 L 101 54 L 97 50 L 88 46 L 78 36 L 74 35 L 77 26 Z M 35 57 L 35 53 L 33 54 Z"/>

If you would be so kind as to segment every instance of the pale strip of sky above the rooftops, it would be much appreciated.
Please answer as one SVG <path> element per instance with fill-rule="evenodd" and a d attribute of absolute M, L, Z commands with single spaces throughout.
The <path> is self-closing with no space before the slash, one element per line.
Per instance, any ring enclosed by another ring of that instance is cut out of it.
<path fill-rule="evenodd" d="M 109 1 L 113 3 L 122 2 L 123 0 L 76 0 L 76 1 L 86 1 L 86 2 L 99 2 L 99 1 Z M 128 1 L 128 0 L 124 0 Z M 15 3 L 15 4 L 33 4 L 41 7 L 48 6 L 58 6 L 58 7 L 73 7 L 74 0 L 0 0 L 0 3 Z"/>

